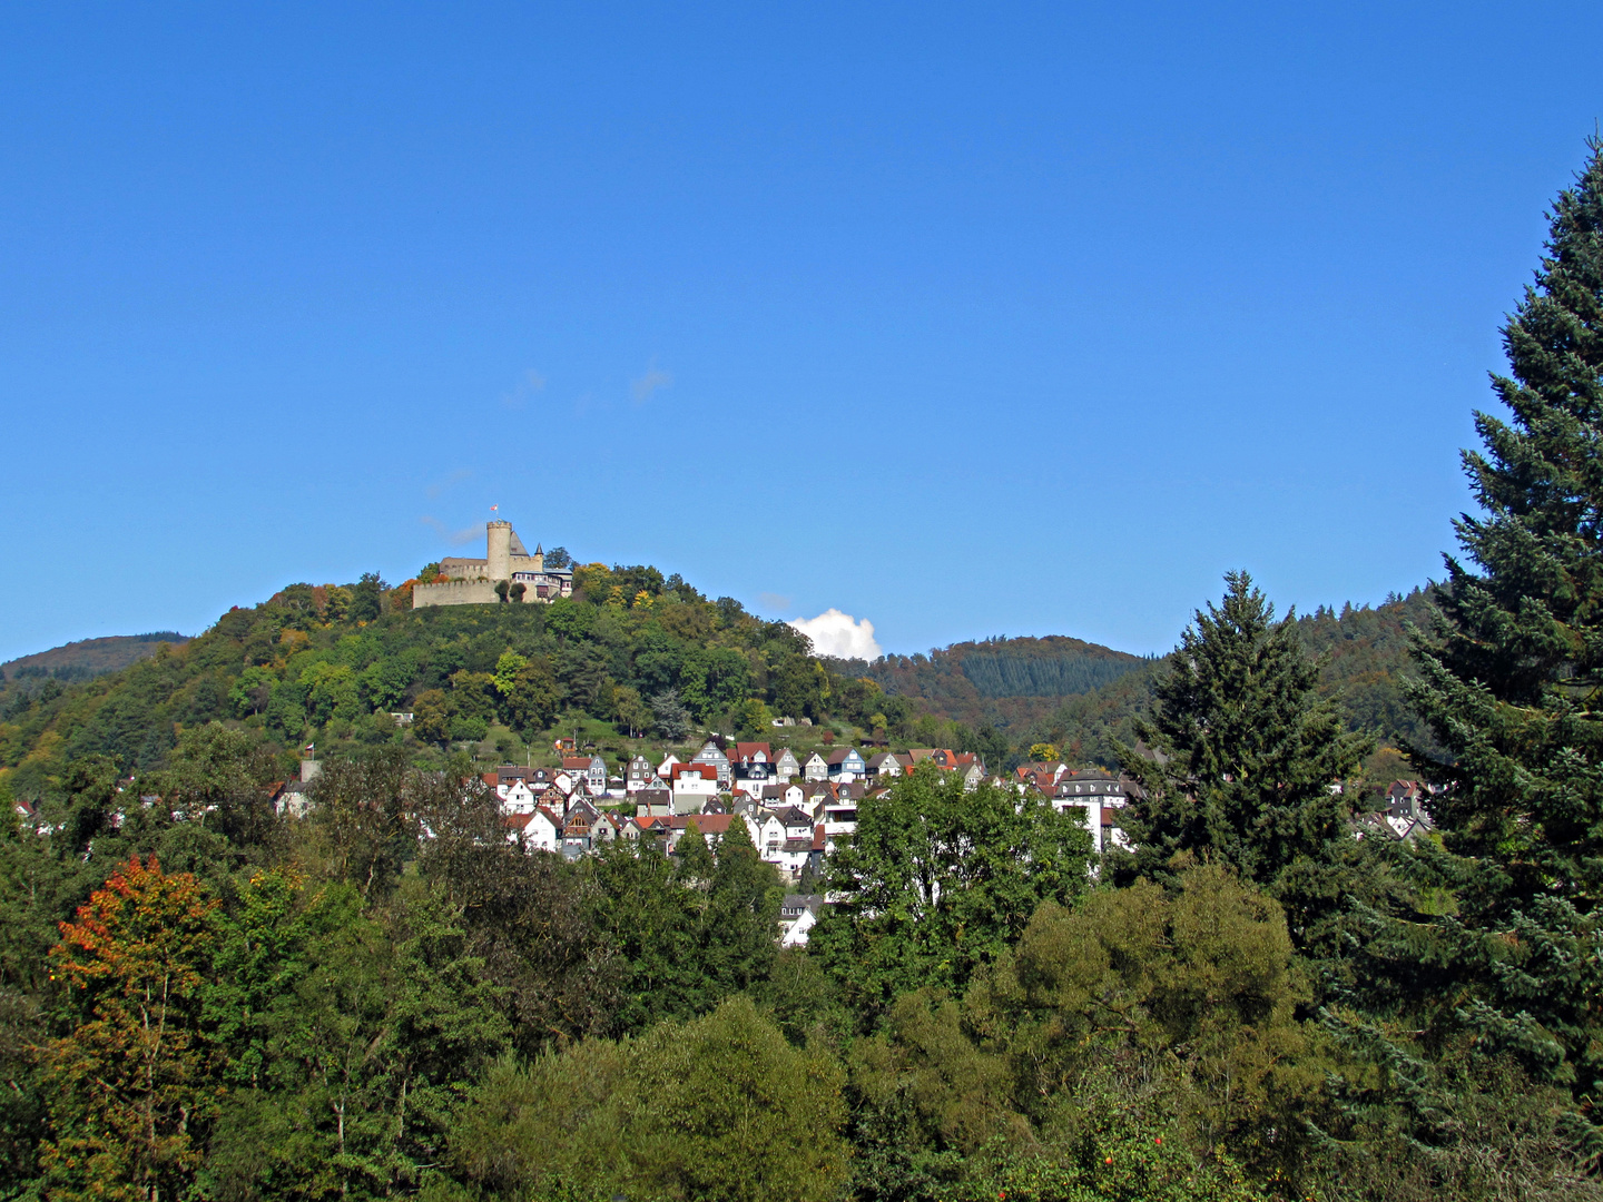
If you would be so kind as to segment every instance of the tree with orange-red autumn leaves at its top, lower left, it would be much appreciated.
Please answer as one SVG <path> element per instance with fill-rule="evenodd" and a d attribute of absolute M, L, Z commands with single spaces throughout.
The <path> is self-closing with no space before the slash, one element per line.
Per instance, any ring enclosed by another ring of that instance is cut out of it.
<path fill-rule="evenodd" d="M 61 923 L 51 979 L 77 1021 L 45 1051 L 50 1197 L 176 1199 L 200 1167 L 221 1093 L 200 1024 L 215 909 L 194 875 L 135 856 Z"/>

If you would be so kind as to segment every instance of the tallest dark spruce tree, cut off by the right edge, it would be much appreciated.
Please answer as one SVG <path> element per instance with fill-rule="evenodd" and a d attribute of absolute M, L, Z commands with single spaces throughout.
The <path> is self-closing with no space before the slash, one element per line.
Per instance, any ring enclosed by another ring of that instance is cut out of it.
<path fill-rule="evenodd" d="M 1414 755 L 1457 857 L 1441 923 L 1454 1014 L 1526 1064 L 1603 1090 L 1603 143 L 1548 215 L 1536 280 L 1502 329 L 1508 418 L 1464 454 L 1412 699 L 1446 756 Z"/>

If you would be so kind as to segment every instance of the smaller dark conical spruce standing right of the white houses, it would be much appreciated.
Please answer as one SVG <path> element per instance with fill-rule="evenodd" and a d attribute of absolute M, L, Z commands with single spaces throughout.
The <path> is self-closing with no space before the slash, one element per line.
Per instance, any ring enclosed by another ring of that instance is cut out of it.
<path fill-rule="evenodd" d="M 1181 853 L 1221 861 L 1279 897 L 1306 949 L 1347 889 L 1351 837 L 1335 785 L 1371 740 L 1318 696 L 1319 664 L 1295 615 L 1276 622 L 1246 572 L 1225 583 L 1223 601 L 1181 635 L 1149 720 L 1137 723 L 1148 747 L 1117 748 L 1143 798 L 1127 819 L 1133 861 L 1116 861 L 1116 875 L 1165 880 Z"/>

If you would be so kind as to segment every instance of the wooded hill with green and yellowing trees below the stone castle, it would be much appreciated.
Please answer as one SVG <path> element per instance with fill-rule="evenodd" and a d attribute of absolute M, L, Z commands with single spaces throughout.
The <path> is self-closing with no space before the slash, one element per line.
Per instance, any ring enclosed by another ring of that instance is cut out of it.
<path fill-rule="evenodd" d="M 420 611 L 409 585 L 377 575 L 292 585 L 117 673 L 6 681 L 0 792 L 35 798 L 83 756 L 157 768 L 184 728 L 212 720 L 253 731 L 290 766 L 306 742 L 332 755 L 401 745 L 426 764 L 487 739 L 484 753 L 521 761 L 529 744 L 548 755 L 555 729 L 583 728 L 624 753 L 633 736 L 766 732 L 771 713 L 835 718 L 853 736 L 912 713 L 870 686 L 832 681 L 785 623 L 678 577 L 590 564 L 575 585 L 551 606 Z"/>

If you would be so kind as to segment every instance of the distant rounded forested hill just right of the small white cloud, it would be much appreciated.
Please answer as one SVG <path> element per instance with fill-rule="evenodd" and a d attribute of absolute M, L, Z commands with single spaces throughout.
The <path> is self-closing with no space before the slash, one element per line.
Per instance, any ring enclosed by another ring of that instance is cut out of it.
<path fill-rule="evenodd" d="M 1143 664 L 1140 655 L 1066 635 L 954 643 L 928 655 L 883 655 L 872 664 L 830 660 L 842 675 L 872 680 L 946 718 L 1003 728 L 1037 723 L 1064 697 L 1098 689 Z"/>

